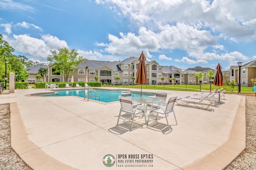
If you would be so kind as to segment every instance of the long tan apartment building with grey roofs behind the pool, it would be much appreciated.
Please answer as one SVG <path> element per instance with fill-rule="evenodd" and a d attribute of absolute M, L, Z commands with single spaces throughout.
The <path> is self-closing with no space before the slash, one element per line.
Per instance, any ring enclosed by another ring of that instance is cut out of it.
<path fill-rule="evenodd" d="M 203 76 L 202 79 L 197 78 L 194 75 L 197 71 L 193 69 L 184 70 L 174 66 L 161 66 L 156 61 L 145 61 L 145 63 L 149 84 L 206 84 L 209 82 L 206 76 Z M 98 76 L 97 81 L 102 83 L 132 84 L 134 83 L 132 77 L 136 77 L 138 64 L 138 57 L 129 57 L 123 61 L 85 60 L 77 65 L 76 70 L 70 70 L 71 75 L 68 76 L 68 82 L 71 82 L 73 75 L 74 82 L 95 82 L 94 76 Z M 54 64 L 48 66 L 49 82 L 64 82 L 63 74 L 54 72 L 54 67 Z M 207 74 L 208 68 L 199 68 L 203 69 L 203 75 Z M 115 77 L 120 79 L 117 80 Z"/>

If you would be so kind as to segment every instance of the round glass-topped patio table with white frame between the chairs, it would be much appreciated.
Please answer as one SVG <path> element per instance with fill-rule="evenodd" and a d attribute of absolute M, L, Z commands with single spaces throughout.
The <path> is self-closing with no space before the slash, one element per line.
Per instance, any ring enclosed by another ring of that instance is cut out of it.
<path fill-rule="evenodd" d="M 134 98 L 131 98 L 131 100 L 132 102 L 143 104 L 142 106 L 143 106 L 146 124 L 148 124 L 148 121 L 149 121 L 149 117 L 147 114 L 148 104 L 159 103 L 161 101 L 161 99 L 159 98 L 152 98 L 152 97 L 134 97 Z"/>

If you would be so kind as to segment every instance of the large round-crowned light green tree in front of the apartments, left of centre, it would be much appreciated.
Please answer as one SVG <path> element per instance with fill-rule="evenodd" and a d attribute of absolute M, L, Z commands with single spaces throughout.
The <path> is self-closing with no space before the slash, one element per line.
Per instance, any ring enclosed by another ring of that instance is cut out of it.
<path fill-rule="evenodd" d="M 47 57 L 50 64 L 55 64 L 56 69 L 64 75 L 66 82 L 68 76 L 71 75 L 70 70 L 76 69 L 76 65 L 84 61 L 84 57 L 78 56 L 77 50 L 68 49 L 66 47 L 55 51 L 50 51 L 52 54 Z"/>

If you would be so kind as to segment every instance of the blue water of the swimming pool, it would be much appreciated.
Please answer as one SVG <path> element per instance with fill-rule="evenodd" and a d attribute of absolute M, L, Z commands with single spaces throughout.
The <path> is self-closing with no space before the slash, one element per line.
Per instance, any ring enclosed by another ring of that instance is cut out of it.
<path fill-rule="evenodd" d="M 118 96 L 121 96 L 121 92 L 122 92 L 118 90 L 97 90 L 97 89 L 94 89 L 94 90 L 100 94 L 101 102 L 118 101 Z M 87 95 L 87 90 L 85 94 Z M 131 94 L 132 94 L 132 97 L 140 97 L 140 93 L 131 92 Z M 89 96 L 92 96 L 92 95 L 94 94 L 89 91 Z M 154 96 L 154 95 L 155 94 L 142 93 L 143 97 Z M 55 94 L 41 94 L 40 96 L 79 96 L 84 98 L 84 90 L 58 90 L 58 91 L 55 91 Z M 89 97 L 89 99 L 95 100 L 95 97 Z M 99 100 L 99 98 L 96 97 L 96 100 Z"/>

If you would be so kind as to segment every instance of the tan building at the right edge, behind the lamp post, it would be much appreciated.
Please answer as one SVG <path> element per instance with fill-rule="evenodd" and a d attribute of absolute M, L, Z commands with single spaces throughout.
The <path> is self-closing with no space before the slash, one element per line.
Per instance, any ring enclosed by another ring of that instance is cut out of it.
<path fill-rule="evenodd" d="M 235 80 L 235 82 L 239 82 L 239 67 L 230 66 L 230 81 Z M 240 68 L 240 76 L 241 76 L 241 84 L 250 84 L 252 78 L 256 78 L 256 60 L 250 61 L 246 64 L 242 64 Z"/>

